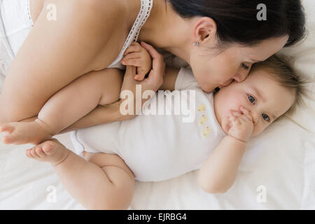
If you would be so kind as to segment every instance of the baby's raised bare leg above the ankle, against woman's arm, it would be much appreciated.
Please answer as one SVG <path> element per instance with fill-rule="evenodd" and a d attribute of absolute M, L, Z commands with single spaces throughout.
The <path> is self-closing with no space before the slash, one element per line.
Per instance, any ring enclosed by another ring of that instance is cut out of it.
<path fill-rule="evenodd" d="M 50 134 L 57 134 L 97 105 L 116 102 L 122 83 L 123 71 L 118 69 L 87 73 L 53 95 L 38 113 L 38 119 L 50 127 Z"/>

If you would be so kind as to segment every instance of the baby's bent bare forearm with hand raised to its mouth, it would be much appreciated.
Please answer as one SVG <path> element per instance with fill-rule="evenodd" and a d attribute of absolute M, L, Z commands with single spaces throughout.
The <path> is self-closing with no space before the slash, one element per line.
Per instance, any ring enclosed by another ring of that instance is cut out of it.
<path fill-rule="evenodd" d="M 211 153 L 198 173 L 200 187 L 208 193 L 225 193 L 235 182 L 246 142 L 253 132 L 253 120 L 246 109 L 230 112 L 229 135 Z"/>

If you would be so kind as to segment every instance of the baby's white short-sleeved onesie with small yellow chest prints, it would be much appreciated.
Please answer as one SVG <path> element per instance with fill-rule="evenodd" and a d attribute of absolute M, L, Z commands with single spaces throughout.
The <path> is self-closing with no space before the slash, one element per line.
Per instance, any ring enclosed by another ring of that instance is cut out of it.
<path fill-rule="evenodd" d="M 161 98 L 155 94 L 143 114 L 131 120 L 73 132 L 76 152 L 117 154 L 137 181 L 163 181 L 199 169 L 225 137 L 214 114 L 214 94 L 201 90 L 190 68 L 181 68 L 175 89 Z M 167 101 L 172 95 L 172 102 Z M 178 104 L 176 97 L 183 102 Z M 152 105 L 172 115 L 144 115 L 155 111 Z M 178 114 L 176 109 L 183 107 L 189 110 Z"/>

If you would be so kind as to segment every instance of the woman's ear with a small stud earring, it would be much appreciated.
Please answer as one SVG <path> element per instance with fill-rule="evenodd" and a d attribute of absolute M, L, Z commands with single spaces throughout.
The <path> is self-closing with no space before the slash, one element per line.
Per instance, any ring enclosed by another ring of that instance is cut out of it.
<path fill-rule="evenodd" d="M 199 18 L 195 22 L 194 27 L 194 42 L 207 43 L 214 41 L 216 36 L 216 22 L 209 17 Z"/>

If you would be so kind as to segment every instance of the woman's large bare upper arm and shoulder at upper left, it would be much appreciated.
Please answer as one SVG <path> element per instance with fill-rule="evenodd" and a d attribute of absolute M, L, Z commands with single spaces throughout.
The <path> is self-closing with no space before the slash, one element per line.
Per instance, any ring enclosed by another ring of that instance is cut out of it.
<path fill-rule="evenodd" d="M 105 1 L 111 7 L 104 6 Z M 49 3 L 55 5 L 56 20 L 48 19 Z M 62 87 L 113 62 L 125 38 L 124 27 L 118 26 L 125 20 L 117 17 L 122 13 L 117 5 L 110 0 L 45 1 L 8 69 L 0 95 L 0 123 L 35 116 Z"/>

